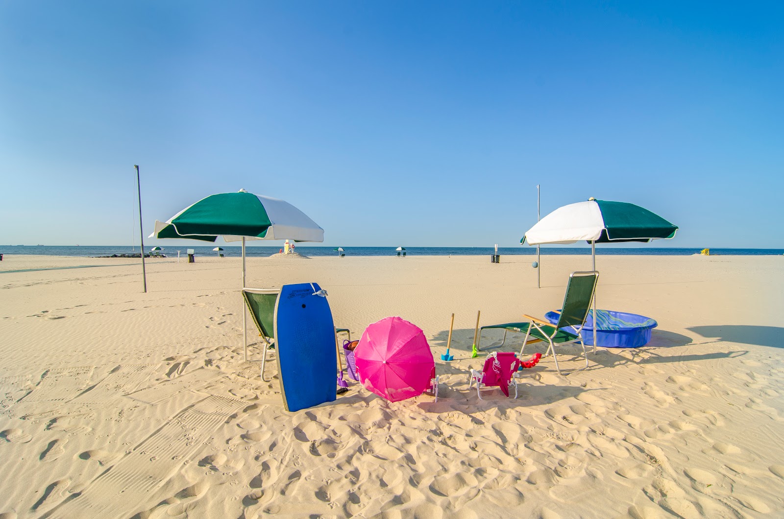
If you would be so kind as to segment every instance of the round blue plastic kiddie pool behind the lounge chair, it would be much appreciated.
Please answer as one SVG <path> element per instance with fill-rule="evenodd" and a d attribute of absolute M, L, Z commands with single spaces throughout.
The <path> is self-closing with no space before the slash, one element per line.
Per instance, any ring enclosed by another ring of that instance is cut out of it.
<path fill-rule="evenodd" d="M 555 324 L 558 314 L 547 312 L 544 316 L 547 321 Z M 643 315 L 627 314 L 612 310 L 596 310 L 596 320 L 599 326 L 596 330 L 597 346 L 605 348 L 639 348 L 651 340 L 651 331 L 659 324 L 652 318 Z M 574 331 L 570 326 L 564 328 Z M 583 327 L 583 342 L 586 346 L 593 346 L 593 310 L 588 312 L 586 325 Z"/>

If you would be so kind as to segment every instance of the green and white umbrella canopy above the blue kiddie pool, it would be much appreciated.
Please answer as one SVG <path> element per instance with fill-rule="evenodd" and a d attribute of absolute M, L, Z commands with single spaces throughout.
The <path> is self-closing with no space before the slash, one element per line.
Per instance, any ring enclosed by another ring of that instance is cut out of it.
<path fill-rule="evenodd" d="M 590 199 L 559 207 L 525 233 L 521 243 L 596 243 L 673 238 L 678 227 L 661 216 L 622 201 Z"/>

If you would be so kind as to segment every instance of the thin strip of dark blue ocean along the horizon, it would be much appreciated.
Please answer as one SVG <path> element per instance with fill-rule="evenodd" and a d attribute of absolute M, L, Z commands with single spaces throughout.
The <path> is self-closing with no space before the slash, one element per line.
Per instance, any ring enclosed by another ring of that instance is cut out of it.
<path fill-rule="evenodd" d="M 197 256 L 217 255 L 212 249 L 215 245 L 191 246 L 168 245 L 162 251 L 166 256 L 177 256 L 181 251 L 184 256 L 187 249 L 194 249 Z M 151 247 L 145 247 L 149 252 Z M 224 256 L 241 256 L 241 247 L 224 246 Z M 334 247 L 314 247 L 299 245 L 296 252 L 304 256 L 337 256 Z M 390 247 L 343 247 L 346 256 L 396 256 L 397 246 Z M 280 250 L 280 247 L 248 246 L 247 256 L 270 256 Z M 691 256 L 702 249 L 682 249 L 665 247 L 628 247 L 614 245 L 597 245 L 596 253 L 612 256 Z M 42 256 L 111 256 L 112 254 L 129 254 L 139 252 L 139 246 L 132 245 L 0 245 L 0 254 L 38 254 Z M 407 256 L 489 256 L 493 253 L 492 247 L 406 247 Z M 499 247 L 501 256 L 535 256 L 536 248 L 528 245 L 520 247 Z M 711 255 L 716 256 L 782 256 L 784 249 L 710 249 Z M 590 256 L 589 247 L 542 247 L 542 255 L 569 255 L 579 254 Z"/>

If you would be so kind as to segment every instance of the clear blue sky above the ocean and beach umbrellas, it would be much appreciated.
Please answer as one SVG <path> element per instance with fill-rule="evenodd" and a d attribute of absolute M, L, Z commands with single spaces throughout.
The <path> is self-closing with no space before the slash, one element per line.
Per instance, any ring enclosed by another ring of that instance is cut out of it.
<path fill-rule="evenodd" d="M 543 214 L 681 227 L 657 245 L 784 248 L 782 27 L 784 2 L 0 2 L 0 243 L 130 244 L 139 164 L 145 235 L 245 187 L 325 245 L 512 246 L 541 183 Z"/>

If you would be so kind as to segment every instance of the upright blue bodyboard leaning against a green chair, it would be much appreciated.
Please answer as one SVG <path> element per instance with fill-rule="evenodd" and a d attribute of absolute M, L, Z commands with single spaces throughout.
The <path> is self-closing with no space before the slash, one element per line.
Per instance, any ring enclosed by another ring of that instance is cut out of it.
<path fill-rule="evenodd" d="M 316 283 L 283 285 L 275 303 L 275 347 L 286 411 L 337 397 L 335 325 Z"/>

